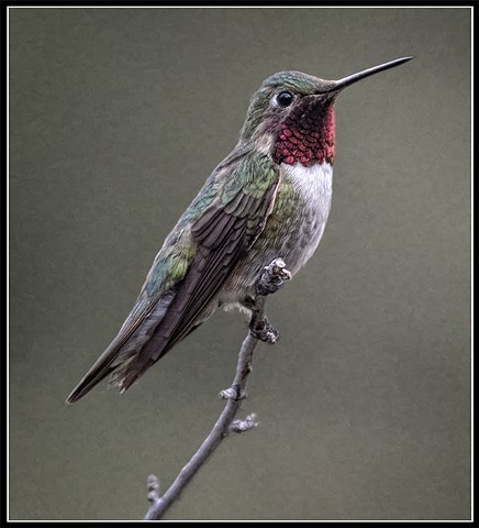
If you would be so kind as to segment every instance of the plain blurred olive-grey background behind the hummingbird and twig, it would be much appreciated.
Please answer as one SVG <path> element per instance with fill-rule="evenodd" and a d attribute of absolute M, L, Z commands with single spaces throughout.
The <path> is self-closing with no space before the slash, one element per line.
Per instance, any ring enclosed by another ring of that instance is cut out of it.
<path fill-rule="evenodd" d="M 65 398 L 264 78 L 411 63 L 336 105 L 333 208 L 243 416 L 168 519 L 470 518 L 470 11 L 11 9 L 10 518 L 138 519 L 211 429 L 216 314 L 119 396 Z"/>

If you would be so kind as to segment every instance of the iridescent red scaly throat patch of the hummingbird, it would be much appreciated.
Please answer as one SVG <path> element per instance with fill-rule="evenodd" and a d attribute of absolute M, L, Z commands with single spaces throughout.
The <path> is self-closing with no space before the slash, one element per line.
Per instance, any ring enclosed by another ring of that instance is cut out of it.
<path fill-rule="evenodd" d="M 274 147 L 276 163 L 310 167 L 334 163 L 334 102 L 304 101 L 281 123 Z"/>

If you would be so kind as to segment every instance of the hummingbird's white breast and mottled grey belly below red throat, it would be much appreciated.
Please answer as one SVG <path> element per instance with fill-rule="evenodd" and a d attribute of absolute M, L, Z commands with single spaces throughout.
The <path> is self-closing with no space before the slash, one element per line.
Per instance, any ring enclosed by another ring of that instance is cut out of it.
<path fill-rule="evenodd" d="M 222 304 L 254 294 L 264 266 L 281 257 L 294 275 L 312 256 L 326 226 L 333 194 L 328 163 L 281 165 L 281 183 L 265 229 L 222 290 Z"/>

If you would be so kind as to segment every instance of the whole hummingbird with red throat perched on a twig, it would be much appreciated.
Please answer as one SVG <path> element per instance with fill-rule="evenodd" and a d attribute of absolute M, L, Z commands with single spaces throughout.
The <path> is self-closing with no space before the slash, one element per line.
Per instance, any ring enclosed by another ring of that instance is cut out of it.
<path fill-rule="evenodd" d="M 330 213 L 337 95 L 412 58 L 339 80 L 292 70 L 264 80 L 236 146 L 166 238 L 118 336 L 67 403 L 107 376 L 124 393 L 219 307 L 250 314 L 257 278 L 272 260 L 298 273 Z"/>

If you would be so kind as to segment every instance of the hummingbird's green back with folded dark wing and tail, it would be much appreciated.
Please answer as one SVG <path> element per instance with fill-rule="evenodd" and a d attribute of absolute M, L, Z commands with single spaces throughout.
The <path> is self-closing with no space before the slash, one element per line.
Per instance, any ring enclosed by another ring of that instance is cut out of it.
<path fill-rule="evenodd" d="M 124 392 L 213 311 L 221 288 L 263 231 L 279 185 L 272 162 L 246 154 L 233 153 L 207 180 L 155 258 L 119 334 L 68 403 L 109 374 Z"/>

